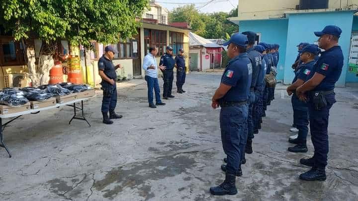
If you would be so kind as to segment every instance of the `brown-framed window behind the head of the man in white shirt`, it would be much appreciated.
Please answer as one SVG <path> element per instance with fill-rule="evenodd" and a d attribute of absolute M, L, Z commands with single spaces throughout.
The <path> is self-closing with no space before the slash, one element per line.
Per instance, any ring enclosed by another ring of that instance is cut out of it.
<path fill-rule="evenodd" d="M 153 45 L 158 47 L 158 54 L 156 56 L 164 55 L 167 47 L 167 32 L 155 29 L 144 29 L 144 44 L 145 55 L 149 53 L 149 48 Z"/>

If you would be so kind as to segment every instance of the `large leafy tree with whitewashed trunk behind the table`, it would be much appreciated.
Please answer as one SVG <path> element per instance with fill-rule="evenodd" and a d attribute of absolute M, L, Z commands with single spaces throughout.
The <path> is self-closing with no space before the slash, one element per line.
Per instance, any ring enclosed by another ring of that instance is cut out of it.
<path fill-rule="evenodd" d="M 23 42 L 30 79 L 36 86 L 46 83 L 58 40 L 87 48 L 92 40 L 117 43 L 120 36 L 136 34 L 136 17 L 148 8 L 148 0 L 1 0 L 0 6 L 0 25 Z M 49 47 L 37 70 L 33 39 Z"/>

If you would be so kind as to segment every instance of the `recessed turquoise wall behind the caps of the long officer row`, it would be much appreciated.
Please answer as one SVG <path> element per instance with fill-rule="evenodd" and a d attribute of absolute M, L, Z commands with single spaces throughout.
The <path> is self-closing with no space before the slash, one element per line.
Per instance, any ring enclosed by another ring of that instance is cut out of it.
<path fill-rule="evenodd" d="M 255 31 L 261 33 L 261 42 L 269 44 L 276 43 L 280 46 L 280 58 L 277 67 L 277 80 L 283 80 L 287 41 L 287 25 L 287 19 L 240 21 L 239 24 L 240 32 Z"/>

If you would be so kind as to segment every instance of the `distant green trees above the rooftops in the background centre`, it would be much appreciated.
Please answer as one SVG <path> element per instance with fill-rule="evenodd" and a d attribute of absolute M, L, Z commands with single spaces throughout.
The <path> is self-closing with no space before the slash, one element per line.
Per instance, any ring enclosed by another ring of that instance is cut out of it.
<path fill-rule="evenodd" d="M 227 18 L 236 17 L 238 9 L 233 9 L 229 13 L 200 13 L 194 4 L 184 5 L 175 8 L 169 19 L 171 22 L 187 22 L 190 23 L 194 33 L 204 38 L 226 38 L 226 34 L 235 33 L 239 27 L 231 23 Z"/>

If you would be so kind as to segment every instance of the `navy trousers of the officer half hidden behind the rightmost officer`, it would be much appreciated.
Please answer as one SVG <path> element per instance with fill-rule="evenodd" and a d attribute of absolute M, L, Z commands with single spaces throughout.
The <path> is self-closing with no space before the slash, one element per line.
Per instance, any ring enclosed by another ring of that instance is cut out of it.
<path fill-rule="evenodd" d="M 298 129 L 299 143 L 306 144 L 308 134 L 308 103 L 302 102 L 296 95 L 291 98 L 293 108 L 293 122 Z"/>

